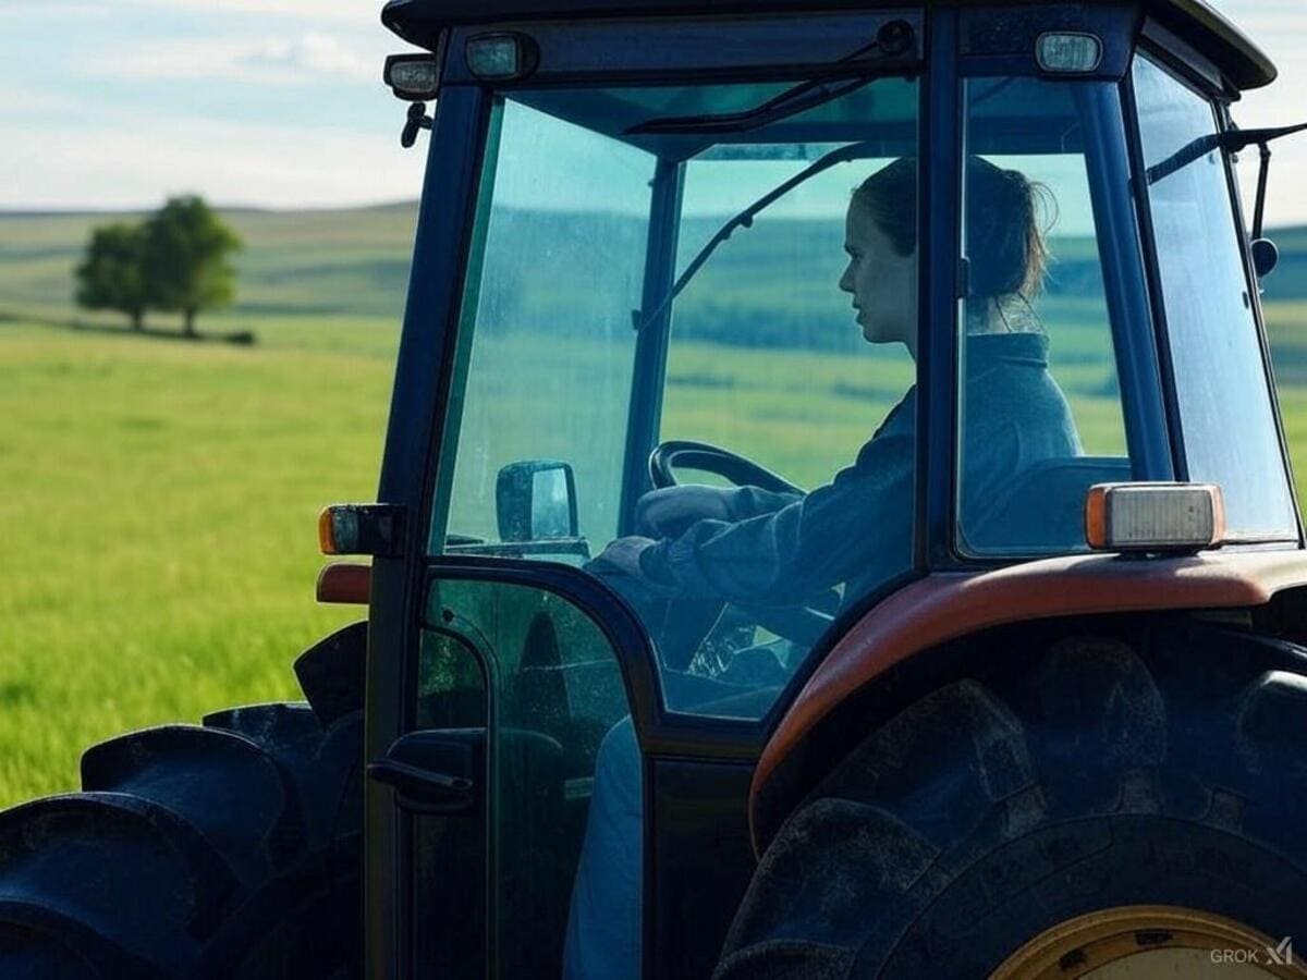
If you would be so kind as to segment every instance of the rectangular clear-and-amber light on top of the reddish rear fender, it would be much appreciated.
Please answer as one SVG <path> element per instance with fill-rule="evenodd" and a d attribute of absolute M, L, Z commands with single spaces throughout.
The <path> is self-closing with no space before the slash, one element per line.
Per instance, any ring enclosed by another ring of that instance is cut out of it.
<path fill-rule="evenodd" d="M 1097 551 L 1192 553 L 1225 533 L 1216 483 L 1098 483 L 1085 498 L 1085 541 Z"/>

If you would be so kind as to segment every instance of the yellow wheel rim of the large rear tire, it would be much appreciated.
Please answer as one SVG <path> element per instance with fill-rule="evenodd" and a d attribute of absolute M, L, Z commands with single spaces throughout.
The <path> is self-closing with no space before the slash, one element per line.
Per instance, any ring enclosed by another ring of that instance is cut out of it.
<path fill-rule="evenodd" d="M 1174 906 L 1124 906 L 1059 923 L 1004 960 L 991 980 L 1307 979 L 1293 937 Z"/>

